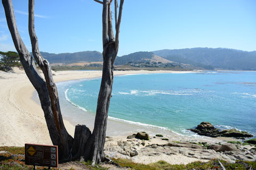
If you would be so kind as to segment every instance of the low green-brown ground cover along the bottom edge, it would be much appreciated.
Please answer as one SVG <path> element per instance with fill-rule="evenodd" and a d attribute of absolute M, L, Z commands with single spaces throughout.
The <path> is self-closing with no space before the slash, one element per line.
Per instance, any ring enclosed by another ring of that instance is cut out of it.
<path fill-rule="evenodd" d="M 0 169 L 10 169 L 10 170 L 18 170 L 18 169 L 33 169 L 34 166 L 25 165 L 24 158 L 24 147 L 0 147 L 0 150 L 5 150 L 7 153 L 0 154 Z M 207 163 L 202 162 L 194 162 L 187 165 L 171 165 L 166 163 L 163 160 L 160 160 L 156 163 L 151 163 L 148 165 L 133 163 L 130 159 L 113 159 L 115 163 L 119 164 L 121 167 L 130 167 L 131 169 L 138 170 L 181 170 L 181 169 L 221 169 L 220 164 L 217 159 L 210 160 Z M 88 169 L 93 170 L 106 170 L 108 168 L 102 167 L 100 165 L 92 166 L 91 162 L 76 162 L 77 164 L 85 165 Z M 256 169 L 256 162 L 246 162 L 242 160 L 237 160 L 236 163 L 231 164 L 221 160 L 221 163 L 227 170 L 236 169 Z M 37 167 L 37 169 L 47 169 L 47 167 Z M 57 169 L 57 168 L 52 168 Z M 73 169 L 73 168 L 70 168 Z"/>

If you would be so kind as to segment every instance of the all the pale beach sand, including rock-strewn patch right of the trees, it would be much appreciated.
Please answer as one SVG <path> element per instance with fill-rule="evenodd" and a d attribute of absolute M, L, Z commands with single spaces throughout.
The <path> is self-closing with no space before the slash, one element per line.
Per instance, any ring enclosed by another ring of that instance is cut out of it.
<path fill-rule="evenodd" d="M 174 72 L 187 73 L 188 71 L 115 71 L 114 74 L 125 75 Z M 99 78 L 101 77 L 101 73 L 101 71 L 59 71 L 53 72 L 53 78 L 55 82 L 83 80 Z M 29 82 L 25 72 L 18 68 L 14 68 L 13 72 L 0 72 L 0 88 L 0 146 L 24 146 L 25 143 L 52 145 L 49 132 L 46 127 L 44 113 L 41 106 L 38 104 L 38 101 L 35 100 L 35 96 L 33 98 L 35 89 Z M 63 115 L 63 118 L 67 131 L 70 135 L 74 135 L 76 124 L 71 122 L 65 115 Z M 86 126 L 88 126 L 92 131 L 93 123 L 94 117 L 91 116 L 91 118 L 89 118 L 84 124 L 86 124 Z M 115 135 L 113 131 L 115 131 L 116 128 L 123 129 L 123 135 Z M 146 131 L 150 134 L 150 140 L 145 141 L 145 146 L 141 145 L 140 140 L 126 139 L 127 135 L 131 135 L 139 131 Z M 216 154 L 214 150 L 212 152 L 202 152 L 200 149 L 195 150 L 186 147 L 185 149 L 172 150 L 172 152 L 166 153 L 165 150 L 170 148 L 170 146 L 166 146 L 169 141 L 154 137 L 155 134 L 161 132 L 166 134 L 170 141 L 206 141 L 208 143 L 214 143 L 227 140 L 227 138 L 213 140 L 213 138 L 210 137 L 185 137 L 171 131 L 164 132 L 164 130 L 156 129 L 154 127 L 145 128 L 145 126 L 124 123 L 118 120 L 108 120 L 107 135 L 110 134 L 110 137 L 106 139 L 105 151 L 109 156 L 130 158 L 130 154 L 126 155 L 123 153 L 126 145 L 130 143 L 130 149 L 136 148 L 140 152 L 138 156 L 131 158 L 132 161 L 143 164 L 157 162 L 158 160 L 165 160 L 170 164 L 187 164 L 197 160 L 206 162 L 212 158 L 225 157 L 225 155 Z M 234 139 L 230 138 L 228 140 Z M 153 146 L 155 144 L 157 144 L 156 147 Z M 186 144 L 188 147 L 191 147 L 190 145 L 191 143 Z M 191 156 L 191 152 L 193 152 L 193 156 Z M 204 156 L 204 158 L 202 156 Z M 230 158 L 227 158 L 227 160 L 229 159 Z"/>

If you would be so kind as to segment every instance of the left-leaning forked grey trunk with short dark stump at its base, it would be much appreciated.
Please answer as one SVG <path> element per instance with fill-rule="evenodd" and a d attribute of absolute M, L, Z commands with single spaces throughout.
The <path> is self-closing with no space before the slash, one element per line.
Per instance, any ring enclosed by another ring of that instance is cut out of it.
<path fill-rule="evenodd" d="M 91 135 L 91 132 L 85 125 L 77 125 L 75 129 L 75 139 L 73 140 L 63 124 L 58 91 L 53 81 L 51 66 L 49 62 L 41 56 L 38 48 L 38 40 L 34 26 L 34 0 L 29 0 L 29 36 L 34 58 L 39 67 L 41 67 L 45 80 L 39 74 L 33 57 L 28 52 L 19 35 L 12 1 L 2 0 L 2 3 L 14 46 L 19 53 L 20 60 L 27 77 L 36 89 L 41 101 L 41 106 L 52 143 L 53 145 L 57 145 L 59 148 L 59 162 L 66 162 L 83 156 L 83 152 L 79 151 L 77 148 L 84 147 L 87 138 Z"/>

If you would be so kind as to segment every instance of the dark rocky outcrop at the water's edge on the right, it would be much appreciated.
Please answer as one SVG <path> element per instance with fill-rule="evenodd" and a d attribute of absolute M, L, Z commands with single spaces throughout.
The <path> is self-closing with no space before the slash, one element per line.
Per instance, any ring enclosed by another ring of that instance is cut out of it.
<path fill-rule="evenodd" d="M 238 131 L 236 129 L 228 129 L 220 131 L 209 122 L 202 122 L 197 125 L 195 129 L 189 129 L 199 135 L 204 135 L 207 137 L 217 138 L 217 137 L 234 137 L 234 138 L 250 138 L 253 137 L 252 134 L 244 131 Z"/>

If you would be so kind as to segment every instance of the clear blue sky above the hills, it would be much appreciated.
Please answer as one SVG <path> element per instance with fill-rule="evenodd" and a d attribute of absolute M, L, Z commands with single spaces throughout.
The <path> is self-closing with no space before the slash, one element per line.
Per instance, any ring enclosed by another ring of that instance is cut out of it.
<path fill-rule="evenodd" d="M 102 5 L 93 0 L 35 0 L 42 52 L 102 52 Z M 13 0 L 28 50 L 28 1 Z M 193 47 L 256 50 L 254 0 L 124 0 L 118 56 Z M 15 50 L 0 5 L 0 51 Z"/>

